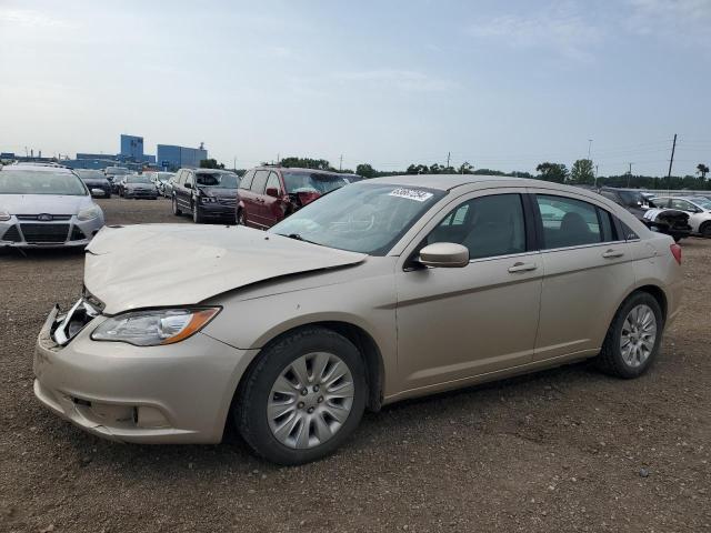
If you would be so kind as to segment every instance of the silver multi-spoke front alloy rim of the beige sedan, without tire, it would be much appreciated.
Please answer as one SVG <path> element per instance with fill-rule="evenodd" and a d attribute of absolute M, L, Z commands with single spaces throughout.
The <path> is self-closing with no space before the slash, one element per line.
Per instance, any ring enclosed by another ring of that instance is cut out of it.
<path fill-rule="evenodd" d="M 291 449 L 312 449 L 333 438 L 353 405 L 356 386 L 346 362 L 328 352 L 301 355 L 284 368 L 269 393 L 272 435 Z"/>

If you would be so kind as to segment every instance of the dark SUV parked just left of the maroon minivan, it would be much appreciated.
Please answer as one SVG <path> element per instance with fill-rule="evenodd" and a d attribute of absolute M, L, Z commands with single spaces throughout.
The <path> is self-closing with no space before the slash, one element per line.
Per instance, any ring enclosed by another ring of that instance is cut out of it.
<path fill-rule="evenodd" d="M 173 214 L 190 213 L 197 224 L 207 219 L 234 222 L 237 188 L 240 184 L 234 172 L 180 169 L 171 180 Z"/>

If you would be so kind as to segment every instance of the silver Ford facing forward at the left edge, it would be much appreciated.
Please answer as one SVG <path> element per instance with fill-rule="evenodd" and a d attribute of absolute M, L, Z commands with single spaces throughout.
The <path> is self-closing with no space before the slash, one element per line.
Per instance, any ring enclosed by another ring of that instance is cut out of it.
<path fill-rule="evenodd" d="M 61 167 L 0 170 L 0 248 L 86 247 L 103 227 L 87 185 Z"/>

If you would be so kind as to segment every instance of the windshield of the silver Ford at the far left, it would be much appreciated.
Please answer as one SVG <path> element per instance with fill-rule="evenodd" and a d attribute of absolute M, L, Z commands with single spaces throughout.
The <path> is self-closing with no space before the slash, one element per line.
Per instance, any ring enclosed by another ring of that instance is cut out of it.
<path fill-rule="evenodd" d="M 77 175 L 70 172 L 3 170 L 0 172 L 0 194 L 86 197 L 87 188 Z"/>

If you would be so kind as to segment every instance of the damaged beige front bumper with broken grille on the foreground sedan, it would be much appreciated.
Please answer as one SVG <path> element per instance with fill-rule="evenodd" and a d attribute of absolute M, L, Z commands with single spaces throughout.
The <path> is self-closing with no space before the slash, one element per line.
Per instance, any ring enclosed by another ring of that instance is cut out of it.
<path fill-rule="evenodd" d="M 97 342 L 90 333 L 106 318 L 82 313 L 83 301 L 66 315 L 54 306 L 40 331 L 34 395 L 43 405 L 114 441 L 220 442 L 247 351 L 201 333 L 159 346 Z"/>

